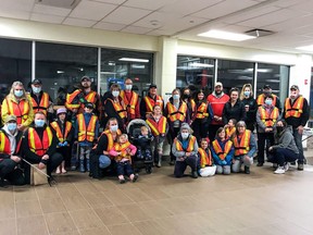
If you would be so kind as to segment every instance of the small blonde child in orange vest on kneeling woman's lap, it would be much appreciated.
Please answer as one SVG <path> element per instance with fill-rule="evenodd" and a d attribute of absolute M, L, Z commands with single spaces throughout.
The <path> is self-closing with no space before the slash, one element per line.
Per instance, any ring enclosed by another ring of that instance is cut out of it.
<path fill-rule="evenodd" d="M 110 156 L 114 157 L 117 164 L 117 175 L 121 184 L 124 184 L 126 174 L 132 182 L 136 182 L 137 174 L 134 174 L 132 168 L 132 157 L 135 156 L 137 148 L 128 141 L 126 134 L 122 134 L 117 137 L 117 143 L 110 150 Z"/>

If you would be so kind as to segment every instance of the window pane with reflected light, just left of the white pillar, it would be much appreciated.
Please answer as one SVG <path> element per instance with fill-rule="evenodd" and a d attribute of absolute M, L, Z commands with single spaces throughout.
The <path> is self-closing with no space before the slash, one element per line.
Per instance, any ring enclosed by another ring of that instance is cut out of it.
<path fill-rule="evenodd" d="M 124 89 L 124 79 L 133 79 L 133 89 L 142 96 L 152 83 L 153 53 L 101 49 L 100 92 L 113 83 Z"/>

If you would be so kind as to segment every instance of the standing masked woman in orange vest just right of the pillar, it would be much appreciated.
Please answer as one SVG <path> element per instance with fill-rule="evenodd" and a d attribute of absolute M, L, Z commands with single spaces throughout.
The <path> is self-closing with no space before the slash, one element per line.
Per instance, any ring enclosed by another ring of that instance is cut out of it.
<path fill-rule="evenodd" d="M 181 123 L 187 122 L 189 123 L 189 113 L 187 103 L 180 99 L 180 91 L 179 89 L 174 89 L 172 91 L 172 97 L 170 98 L 168 102 L 166 103 L 164 116 L 167 118 L 168 123 L 168 133 L 171 137 L 171 165 L 174 165 L 175 157 L 172 152 L 172 146 L 174 139 L 177 137 L 178 132 L 180 129 Z"/>

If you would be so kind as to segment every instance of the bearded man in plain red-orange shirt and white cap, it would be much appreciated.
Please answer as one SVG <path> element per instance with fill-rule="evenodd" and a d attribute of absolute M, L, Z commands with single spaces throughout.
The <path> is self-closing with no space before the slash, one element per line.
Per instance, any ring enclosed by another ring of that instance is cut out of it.
<path fill-rule="evenodd" d="M 229 96 L 227 94 L 224 94 L 223 91 L 223 84 L 217 82 L 214 87 L 214 91 L 210 94 L 206 98 L 208 102 L 211 104 L 214 116 L 209 125 L 209 138 L 211 141 L 214 140 L 216 131 L 220 127 L 224 127 L 223 123 L 223 109 L 226 102 L 229 100 Z"/>

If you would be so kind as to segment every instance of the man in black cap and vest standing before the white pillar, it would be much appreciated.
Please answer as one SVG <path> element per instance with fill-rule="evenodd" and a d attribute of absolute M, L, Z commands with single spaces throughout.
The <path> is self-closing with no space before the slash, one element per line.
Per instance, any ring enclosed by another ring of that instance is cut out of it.
<path fill-rule="evenodd" d="M 143 97 L 140 101 L 140 115 L 141 119 L 146 120 L 148 116 L 152 113 L 153 107 L 154 106 L 160 106 L 161 111 L 163 112 L 164 110 L 164 101 L 161 96 L 158 95 L 156 92 L 156 85 L 151 84 L 149 86 L 149 91 L 146 97 Z"/>

